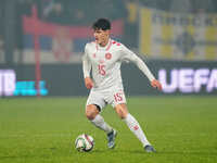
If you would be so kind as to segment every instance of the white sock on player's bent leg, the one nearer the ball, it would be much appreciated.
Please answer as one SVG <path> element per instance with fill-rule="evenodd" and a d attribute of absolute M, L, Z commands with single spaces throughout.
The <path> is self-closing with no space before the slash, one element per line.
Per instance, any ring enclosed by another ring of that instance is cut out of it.
<path fill-rule="evenodd" d="M 106 134 L 112 131 L 112 127 L 105 123 L 104 118 L 100 114 L 98 114 L 91 122 Z"/>

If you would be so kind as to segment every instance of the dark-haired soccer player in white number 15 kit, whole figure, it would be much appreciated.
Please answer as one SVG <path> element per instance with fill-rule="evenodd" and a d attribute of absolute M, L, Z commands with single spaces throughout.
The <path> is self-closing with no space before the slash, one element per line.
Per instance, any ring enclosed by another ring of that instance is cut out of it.
<path fill-rule="evenodd" d="M 151 86 L 162 89 L 162 85 L 152 75 L 145 63 L 124 45 L 110 38 L 111 23 L 100 18 L 92 25 L 95 41 L 85 47 L 82 70 L 85 85 L 90 90 L 86 104 L 86 116 L 94 126 L 107 135 L 107 147 L 115 147 L 117 131 L 105 123 L 100 112 L 111 104 L 118 116 L 142 142 L 146 152 L 155 152 L 146 139 L 138 121 L 128 112 L 120 76 L 120 64 L 133 62 L 151 82 Z"/>

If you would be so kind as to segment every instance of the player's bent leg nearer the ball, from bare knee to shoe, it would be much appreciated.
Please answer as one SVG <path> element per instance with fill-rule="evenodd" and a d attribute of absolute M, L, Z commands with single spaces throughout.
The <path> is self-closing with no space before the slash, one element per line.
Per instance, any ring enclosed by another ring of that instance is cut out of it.
<path fill-rule="evenodd" d="M 104 130 L 107 134 L 107 147 L 113 149 L 115 147 L 115 136 L 116 130 L 113 129 L 107 123 L 105 123 L 104 118 L 99 114 L 97 105 L 90 104 L 86 108 L 86 116 L 88 120 L 92 122 L 94 126 Z"/>

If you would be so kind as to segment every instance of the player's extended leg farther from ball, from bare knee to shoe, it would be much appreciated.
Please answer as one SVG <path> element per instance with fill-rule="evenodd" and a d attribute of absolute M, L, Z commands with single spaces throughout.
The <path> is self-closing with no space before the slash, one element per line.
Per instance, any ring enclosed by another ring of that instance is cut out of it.
<path fill-rule="evenodd" d="M 129 129 L 137 136 L 137 138 L 142 142 L 146 152 L 155 152 L 154 148 L 148 141 L 142 128 L 140 127 L 137 120 L 128 112 L 127 105 L 125 103 L 117 104 L 115 111 L 118 116 L 124 120 Z"/>

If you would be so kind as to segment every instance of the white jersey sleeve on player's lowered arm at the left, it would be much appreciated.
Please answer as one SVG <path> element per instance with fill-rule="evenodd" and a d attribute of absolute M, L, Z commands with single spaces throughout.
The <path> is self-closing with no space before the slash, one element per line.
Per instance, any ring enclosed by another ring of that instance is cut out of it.
<path fill-rule="evenodd" d="M 84 78 L 90 77 L 91 63 L 88 57 L 88 45 L 85 47 L 85 54 L 82 55 L 82 73 Z"/>

